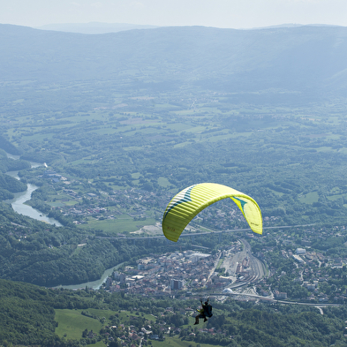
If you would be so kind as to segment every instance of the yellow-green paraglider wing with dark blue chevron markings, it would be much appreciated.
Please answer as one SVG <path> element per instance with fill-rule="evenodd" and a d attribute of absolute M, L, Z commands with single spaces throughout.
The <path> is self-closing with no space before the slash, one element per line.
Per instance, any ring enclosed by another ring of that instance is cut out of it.
<path fill-rule="evenodd" d="M 251 229 L 261 234 L 261 212 L 255 200 L 226 185 L 200 183 L 178 192 L 166 207 L 162 217 L 162 231 L 165 237 L 177 242 L 182 231 L 195 215 L 214 202 L 226 198 L 230 198 L 238 205 Z"/>

